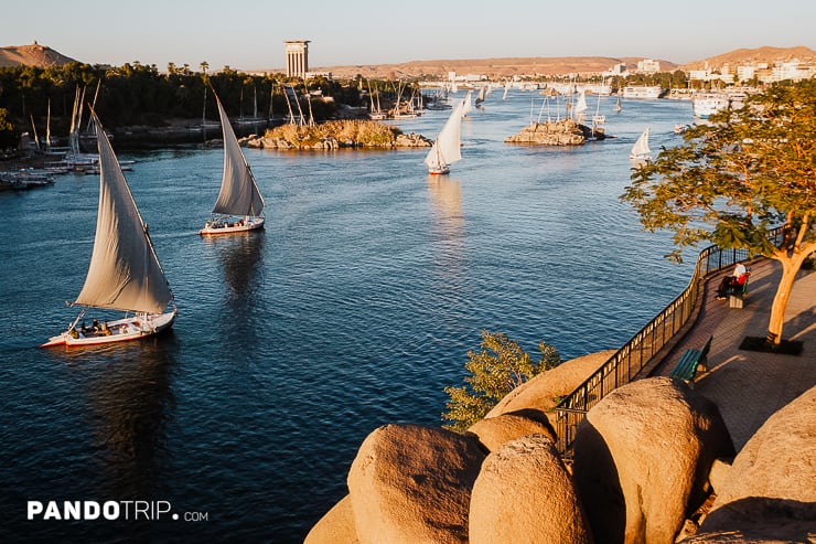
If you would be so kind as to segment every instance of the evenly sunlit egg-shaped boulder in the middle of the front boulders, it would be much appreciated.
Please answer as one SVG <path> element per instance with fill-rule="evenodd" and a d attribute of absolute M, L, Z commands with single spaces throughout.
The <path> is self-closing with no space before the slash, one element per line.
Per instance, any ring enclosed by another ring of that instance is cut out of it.
<path fill-rule="evenodd" d="M 592 542 L 570 477 L 549 437 L 528 435 L 487 456 L 473 486 L 470 542 Z"/>

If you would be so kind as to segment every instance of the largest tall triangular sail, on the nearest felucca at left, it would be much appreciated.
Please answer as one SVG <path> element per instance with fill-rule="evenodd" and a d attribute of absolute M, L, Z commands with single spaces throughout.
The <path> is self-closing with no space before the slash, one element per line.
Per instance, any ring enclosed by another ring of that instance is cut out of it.
<path fill-rule="evenodd" d="M 96 114 L 99 207 L 85 285 L 76 303 L 160 313 L 173 299 L 119 161 Z"/>

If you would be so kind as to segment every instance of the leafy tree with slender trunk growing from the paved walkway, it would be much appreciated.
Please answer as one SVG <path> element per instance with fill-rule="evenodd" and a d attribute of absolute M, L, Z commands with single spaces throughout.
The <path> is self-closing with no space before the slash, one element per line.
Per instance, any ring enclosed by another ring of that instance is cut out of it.
<path fill-rule="evenodd" d="M 766 338 L 779 345 L 796 273 L 816 250 L 816 79 L 773 85 L 710 121 L 635 170 L 621 198 L 646 230 L 674 231 L 676 260 L 701 241 L 779 260 Z"/>

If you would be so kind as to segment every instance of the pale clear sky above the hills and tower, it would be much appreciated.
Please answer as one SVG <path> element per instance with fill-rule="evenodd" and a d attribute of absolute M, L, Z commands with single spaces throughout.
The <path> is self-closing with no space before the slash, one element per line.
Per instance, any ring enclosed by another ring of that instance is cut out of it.
<path fill-rule="evenodd" d="M 683 64 L 741 47 L 816 49 L 813 0 L 34 0 L 3 2 L 0 45 L 36 40 L 89 64 L 310 67 L 505 56 Z"/>

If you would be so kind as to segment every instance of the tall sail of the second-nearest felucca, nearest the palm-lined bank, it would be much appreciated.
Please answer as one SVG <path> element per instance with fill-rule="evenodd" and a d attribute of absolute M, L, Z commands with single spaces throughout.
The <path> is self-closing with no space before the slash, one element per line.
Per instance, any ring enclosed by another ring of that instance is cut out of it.
<path fill-rule="evenodd" d="M 221 127 L 224 135 L 224 177 L 221 181 L 221 192 L 215 201 L 213 213 L 236 216 L 256 216 L 264 210 L 264 198 L 258 191 L 253 171 L 249 169 L 244 152 L 238 146 L 238 139 L 224 106 L 216 96 Z"/>

